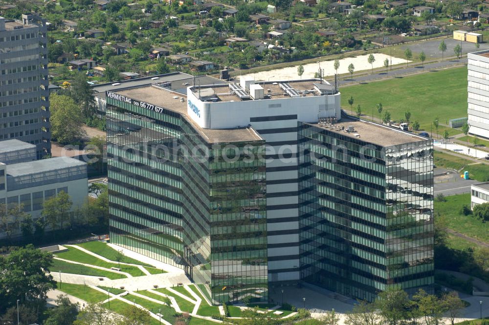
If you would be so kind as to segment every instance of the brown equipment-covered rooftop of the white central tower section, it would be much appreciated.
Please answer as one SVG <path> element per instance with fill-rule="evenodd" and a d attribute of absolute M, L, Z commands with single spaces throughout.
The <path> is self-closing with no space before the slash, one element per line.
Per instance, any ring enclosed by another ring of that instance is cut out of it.
<path fill-rule="evenodd" d="M 247 80 L 253 80 L 252 77 L 246 78 Z M 289 84 L 289 86 L 297 92 L 301 97 L 319 96 L 320 94 L 315 90 L 314 84 L 320 84 L 320 79 L 305 79 L 305 80 L 287 80 L 287 81 L 256 81 L 255 85 L 260 85 L 264 89 L 264 99 L 277 99 L 277 98 L 290 98 L 289 94 L 281 88 L 281 84 Z M 240 84 L 240 80 L 234 80 L 234 83 Z M 323 81 L 323 85 L 330 85 L 326 81 Z M 210 87 L 209 87 L 210 86 Z M 205 85 L 200 84 L 200 87 L 196 85 L 192 88 L 192 92 L 199 93 L 199 88 L 211 89 L 219 101 L 242 101 L 251 100 L 249 98 L 240 98 L 236 92 L 231 91 L 227 82 L 222 81 L 219 85 Z M 240 86 L 240 89 L 243 90 Z"/>

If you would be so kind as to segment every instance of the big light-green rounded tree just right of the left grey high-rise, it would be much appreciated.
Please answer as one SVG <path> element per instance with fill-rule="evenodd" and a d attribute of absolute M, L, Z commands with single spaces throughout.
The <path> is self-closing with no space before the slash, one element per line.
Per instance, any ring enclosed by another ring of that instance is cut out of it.
<path fill-rule="evenodd" d="M 49 96 L 51 110 L 51 136 L 61 144 L 73 143 L 86 136 L 83 115 L 74 100 L 67 95 L 52 93 Z"/>

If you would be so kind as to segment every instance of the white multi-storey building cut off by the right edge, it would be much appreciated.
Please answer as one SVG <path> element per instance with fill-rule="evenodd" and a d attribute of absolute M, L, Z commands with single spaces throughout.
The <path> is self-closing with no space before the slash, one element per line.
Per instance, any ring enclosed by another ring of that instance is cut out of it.
<path fill-rule="evenodd" d="M 469 133 L 489 139 L 489 50 L 468 53 Z"/>

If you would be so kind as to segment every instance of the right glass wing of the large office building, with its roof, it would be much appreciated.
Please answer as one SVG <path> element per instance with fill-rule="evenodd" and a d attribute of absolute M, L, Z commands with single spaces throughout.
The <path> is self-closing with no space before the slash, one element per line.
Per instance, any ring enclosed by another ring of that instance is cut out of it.
<path fill-rule="evenodd" d="M 374 123 L 299 123 L 301 278 L 373 301 L 430 287 L 432 142 Z"/>

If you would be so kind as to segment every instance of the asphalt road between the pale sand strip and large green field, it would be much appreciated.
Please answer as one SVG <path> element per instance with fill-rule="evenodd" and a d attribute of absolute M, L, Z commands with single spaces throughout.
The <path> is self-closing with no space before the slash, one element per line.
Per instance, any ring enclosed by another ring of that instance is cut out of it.
<path fill-rule="evenodd" d="M 460 60 L 446 60 L 442 62 L 434 62 L 434 63 L 428 63 L 424 65 L 424 71 L 427 71 L 426 73 L 429 73 L 431 71 L 435 72 L 439 69 L 445 69 L 445 68 L 450 68 L 450 67 L 455 67 L 455 66 L 462 66 L 467 64 L 467 58 L 462 58 Z M 393 78 L 393 77 L 399 77 L 402 78 L 402 75 L 404 74 L 410 74 L 410 73 L 417 73 L 417 72 L 422 72 L 423 68 L 422 66 L 415 66 L 415 67 L 405 67 L 403 69 L 398 69 L 398 70 L 392 70 L 392 71 L 383 71 L 379 73 L 372 73 L 372 74 L 366 74 L 362 76 L 358 76 L 352 79 L 346 78 L 342 79 L 339 81 L 339 85 L 348 85 L 352 83 L 367 83 L 370 81 L 376 81 L 379 79 L 384 79 L 384 78 Z M 333 80 L 329 80 L 331 84 L 334 84 Z"/>

